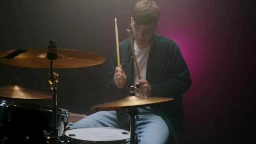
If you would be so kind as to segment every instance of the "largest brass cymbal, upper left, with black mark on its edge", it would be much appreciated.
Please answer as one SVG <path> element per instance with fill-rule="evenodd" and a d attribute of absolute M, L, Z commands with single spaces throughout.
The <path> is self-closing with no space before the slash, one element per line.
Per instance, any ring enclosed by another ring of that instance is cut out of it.
<path fill-rule="evenodd" d="M 50 60 L 47 53 L 57 54 L 53 60 L 53 68 L 77 68 L 98 65 L 105 62 L 105 58 L 91 52 L 72 49 L 13 49 L 0 52 L 0 63 L 29 68 L 48 68 Z"/>

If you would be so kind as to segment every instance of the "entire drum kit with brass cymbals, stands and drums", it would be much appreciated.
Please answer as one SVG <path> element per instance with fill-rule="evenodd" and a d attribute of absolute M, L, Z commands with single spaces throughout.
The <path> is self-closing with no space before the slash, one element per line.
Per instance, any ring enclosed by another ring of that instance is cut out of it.
<path fill-rule="evenodd" d="M 53 68 L 77 68 L 99 65 L 105 58 L 91 52 L 59 49 L 56 42 L 42 49 L 13 49 L 0 52 L 0 63 L 49 70 L 48 83 L 52 94 L 23 88 L 20 85 L 0 86 L 0 141 L 2 144 L 135 144 L 135 116 L 138 108 L 173 100 L 173 98 L 135 96 L 136 87 L 124 99 L 92 107 L 94 111 L 124 110 L 130 115 L 130 131 L 118 128 L 89 127 L 70 129 L 76 121 L 87 117 L 57 108 L 58 74 Z M 52 99 L 52 105 L 22 103 L 17 99 Z"/>

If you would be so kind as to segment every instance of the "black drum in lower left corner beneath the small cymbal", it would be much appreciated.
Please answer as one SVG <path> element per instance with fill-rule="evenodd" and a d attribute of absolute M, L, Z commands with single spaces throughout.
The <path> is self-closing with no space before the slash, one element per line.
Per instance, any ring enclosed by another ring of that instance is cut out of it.
<path fill-rule="evenodd" d="M 46 144 L 43 131 L 52 131 L 51 106 L 20 102 L 12 104 L 8 100 L 0 102 L 0 138 L 7 137 L 4 144 Z M 57 125 L 64 122 L 68 114 L 69 111 L 57 108 Z"/>

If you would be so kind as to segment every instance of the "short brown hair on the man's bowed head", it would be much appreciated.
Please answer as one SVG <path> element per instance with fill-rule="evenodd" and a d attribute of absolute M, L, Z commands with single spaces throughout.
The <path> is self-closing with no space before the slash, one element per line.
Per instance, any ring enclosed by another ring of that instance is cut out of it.
<path fill-rule="evenodd" d="M 132 19 L 136 24 L 158 23 L 160 11 L 154 0 L 141 0 L 132 10 Z"/>

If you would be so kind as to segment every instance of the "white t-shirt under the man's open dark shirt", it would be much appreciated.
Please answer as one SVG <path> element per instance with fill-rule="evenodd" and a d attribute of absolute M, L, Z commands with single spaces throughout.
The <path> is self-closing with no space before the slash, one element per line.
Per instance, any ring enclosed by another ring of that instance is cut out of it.
<path fill-rule="evenodd" d="M 139 71 L 140 71 L 142 79 L 146 79 L 148 54 L 149 54 L 149 51 L 150 51 L 150 48 L 151 48 L 151 44 L 149 44 L 144 49 L 139 49 L 134 44 L 135 56 L 136 56 L 136 59 L 137 59 L 137 62 L 138 62 L 138 67 L 139 67 Z M 136 86 L 136 83 L 138 83 L 138 72 L 137 72 L 137 69 L 136 69 L 136 66 L 135 66 L 135 68 L 133 69 L 133 85 Z M 140 96 L 140 97 L 147 97 L 147 95 L 139 95 L 139 93 L 136 93 L 135 95 Z"/>

